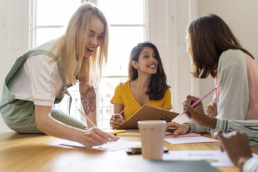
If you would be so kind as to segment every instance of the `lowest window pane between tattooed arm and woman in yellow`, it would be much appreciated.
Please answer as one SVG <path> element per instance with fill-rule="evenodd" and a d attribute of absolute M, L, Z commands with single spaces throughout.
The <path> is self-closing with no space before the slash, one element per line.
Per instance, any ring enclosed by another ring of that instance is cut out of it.
<path fill-rule="evenodd" d="M 113 105 L 110 103 L 114 95 L 114 89 L 128 78 L 101 78 L 99 83 L 99 125 L 102 128 L 110 128 L 110 117 L 113 114 Z"/>

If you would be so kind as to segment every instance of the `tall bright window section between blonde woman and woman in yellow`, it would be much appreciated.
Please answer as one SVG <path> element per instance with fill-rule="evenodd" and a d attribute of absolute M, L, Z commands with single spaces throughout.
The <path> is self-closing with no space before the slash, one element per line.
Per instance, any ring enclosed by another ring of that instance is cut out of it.
<path fill-rule="evenodd" d="M 99 84 L 99 125 L 109 127 L 113 112 L 110 100 L 115 87 L 128 80 L 128 62 L 132 47 L 146 40 L 144 0 L 98 0 L 110 24 L 108 61 Z M 133 11 L 133 12 L 132 12 Z"/>

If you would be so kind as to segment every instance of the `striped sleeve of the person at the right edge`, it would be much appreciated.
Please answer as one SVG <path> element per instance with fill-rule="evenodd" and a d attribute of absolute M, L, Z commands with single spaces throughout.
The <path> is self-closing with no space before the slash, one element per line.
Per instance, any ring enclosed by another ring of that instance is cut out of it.
<path fill-rule="evenodd" d="M 232 131 L 245 132 L 248 137 L 250 146 L 258 146 L 258 119 L 217 119 L 216 129 L 225 133 Z"/>

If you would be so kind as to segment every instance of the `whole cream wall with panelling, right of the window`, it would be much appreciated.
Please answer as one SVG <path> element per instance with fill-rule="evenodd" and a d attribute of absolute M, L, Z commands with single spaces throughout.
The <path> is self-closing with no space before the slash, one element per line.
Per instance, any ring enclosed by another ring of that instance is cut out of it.
<path fill-rule="evenodd" d="M 200 97 L 214 87 L 213 78 L 196 79 L 189 73 L 191 65 L 184 38 L 189 22 L 196 17 L 209 13 L 222 17 L 258 62 L 257 0 L 150 0 L 150 6 L 149 38 L 162 55 L 176 112 L 182 112 L 185 95 Z M 205 98 L 204 106 L 212 101 L 212 96 Z"/>

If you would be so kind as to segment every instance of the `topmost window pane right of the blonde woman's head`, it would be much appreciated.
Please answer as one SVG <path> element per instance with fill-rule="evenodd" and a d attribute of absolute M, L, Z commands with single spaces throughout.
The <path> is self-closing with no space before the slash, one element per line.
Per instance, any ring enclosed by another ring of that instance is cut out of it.
<path fill-rule="evenodd" d="M 144 24 L 144 0 L 98 0 L 109 24 Z"/>

